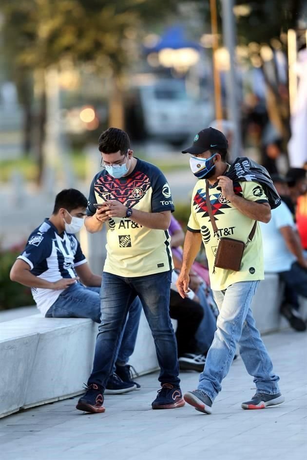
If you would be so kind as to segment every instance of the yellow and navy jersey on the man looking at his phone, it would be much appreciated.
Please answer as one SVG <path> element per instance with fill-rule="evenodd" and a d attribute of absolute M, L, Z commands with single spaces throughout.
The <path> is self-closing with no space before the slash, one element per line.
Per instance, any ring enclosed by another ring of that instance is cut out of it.
<path fill-rule="evenodd" d="M 171 190 L 162 172 L 139 159 L 128 176 L 115 179 L 104 169 L 94 177 L 87 215 L 95 214 L 93 203 L 108 200 L 118 200 L 125 206 L 145 212 L 174 210 Z M 143 227 L 131 218 L 109 219 L 106 228 L 104 272 L 131 277 L 173 269 L 168 231 Z"/>

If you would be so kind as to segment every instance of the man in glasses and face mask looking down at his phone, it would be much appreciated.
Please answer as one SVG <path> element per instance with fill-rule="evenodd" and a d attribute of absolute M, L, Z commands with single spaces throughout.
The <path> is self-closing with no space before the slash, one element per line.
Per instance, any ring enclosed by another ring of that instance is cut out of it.
<path fill-rule="evenodd" d="M 133 157 L 125 131 L 109 128 L 98 143 L 104 169 L 91 184 L 85 226 L 96 233 L 106 225 L 107 258 L 94 365 L 77 409 L 104 412 L 103 392 L 120 332 L 137 295 L 152 330 L 161 369 L 161 389 L 152 407 L 181 407 L 185 403 L 169 314 L 173 260 L 168 228 L 174 210 L 171 190 L 156 166 Z"/>

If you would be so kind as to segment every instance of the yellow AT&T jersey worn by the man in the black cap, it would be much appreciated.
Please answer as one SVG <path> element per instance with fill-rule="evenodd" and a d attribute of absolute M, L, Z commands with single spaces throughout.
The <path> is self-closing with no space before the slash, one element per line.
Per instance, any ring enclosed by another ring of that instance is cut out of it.
<path fill-rule="evenodd" d="M 219 237 L 228 237 L 247 242 L 254 221 L 238 211 L 221 191 L 217 189 L 218 182 L 209 187 L 210 202 Z M 235 194 L 246 200 L 258 203 L 268 202 L 268 199 L 260 184 L 256 182 L 234 182 Z M 200 232 L 208 259 L 211 288 L 214 291 L 222 291 L 230 284 L 238 281 L 254 281 L 264 279 L 262 238 L 259 224 L 257 224 L 252 241 L 245 248 L 240 271 L 224 270 L 215 267 L 213 273 L 214 258 L 218 246 L 218 239 L 213 234 L 213 229 L 206 205 L 206 182 L 199 180 L 193 190 L 191 216 L 188 230 Z"/>

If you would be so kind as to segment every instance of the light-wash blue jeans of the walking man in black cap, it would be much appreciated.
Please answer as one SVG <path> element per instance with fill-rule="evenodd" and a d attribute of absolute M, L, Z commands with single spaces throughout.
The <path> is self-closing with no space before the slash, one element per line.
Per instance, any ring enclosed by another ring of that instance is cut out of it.
<path fill-rule="evenodd" d="M 198 385 L 198 389 L 212 401 L 221 391 L 222 380 L 229 372 L 237 344 L 249 375 L 254 377 L 257 391 L 267 394 L 279 392 L 279 377 L 273 373 L 268 351 L 250 310 L 258 283 L 241 281 L 231 284 L 224 291 L 213 291 L 219 309 L 217 330 Z"/>

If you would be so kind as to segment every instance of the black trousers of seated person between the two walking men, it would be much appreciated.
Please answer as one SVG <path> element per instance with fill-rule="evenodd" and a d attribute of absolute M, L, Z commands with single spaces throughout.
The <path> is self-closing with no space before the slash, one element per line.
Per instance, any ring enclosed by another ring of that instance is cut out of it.
<path fill-rule="evenodd" d="M 202 306 L 189 298 L 183 299 L 171 289 L 170 315 L 178 321 L 176 330 L 178 356 L 184 353 L 198 353 L 195 334 L 204 316 Z"/>

